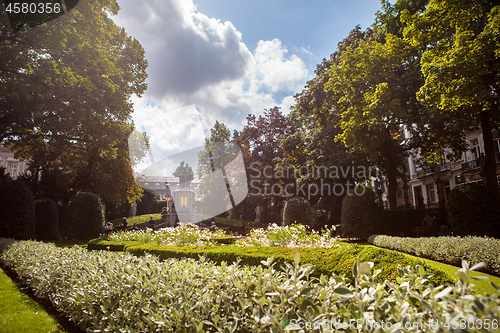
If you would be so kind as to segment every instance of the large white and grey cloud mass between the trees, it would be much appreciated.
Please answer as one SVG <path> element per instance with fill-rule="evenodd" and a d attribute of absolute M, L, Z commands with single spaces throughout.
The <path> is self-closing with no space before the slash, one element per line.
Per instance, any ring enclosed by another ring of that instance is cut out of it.
<path fill-rule="evenodd" d="M 202 144 L 215 120 L 240 129 L 249 113 L 276 105 L 288 112 L 312 77 L 280 40 L 259 41 L 252 54 L 231 22 L 197 12 L 192 0 L 119 4 L 115 22 L 139 40 L 149 63 L 148 90 L 133 100 L 134 121 L 139 130 L 149 124 L 163 155 Z"/>

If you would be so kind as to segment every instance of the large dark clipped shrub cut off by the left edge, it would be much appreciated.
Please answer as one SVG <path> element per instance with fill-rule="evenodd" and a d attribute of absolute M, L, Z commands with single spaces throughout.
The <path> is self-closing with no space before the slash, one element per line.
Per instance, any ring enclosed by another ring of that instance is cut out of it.
<path fill-rule="evenodd" d="M 35 236 L 35 206 L 27 185 L 0 180 L 0 237 L 29 239 Z"/>

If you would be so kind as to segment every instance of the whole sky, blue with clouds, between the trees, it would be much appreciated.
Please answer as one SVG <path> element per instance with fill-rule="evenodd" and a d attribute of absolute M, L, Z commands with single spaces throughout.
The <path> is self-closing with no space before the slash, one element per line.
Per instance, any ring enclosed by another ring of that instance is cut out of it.
<path fill-rule="evenodd" d="M 118 0 L 113 19 L 144 47 L 148 90 L 133 119 L 156 160 L 201 146 L 215 121 L 241 130 L 248 114 L 281 107 L 378 0 Z M 145 164 L 150 161 L 143 162 Z"/>

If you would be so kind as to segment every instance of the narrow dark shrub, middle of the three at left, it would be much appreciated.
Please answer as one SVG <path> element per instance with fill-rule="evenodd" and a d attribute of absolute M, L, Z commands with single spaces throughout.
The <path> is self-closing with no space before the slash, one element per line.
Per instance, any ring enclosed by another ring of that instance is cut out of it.
<path fill-rule="evenodd" d="M 59 240 L 59 212 L 54 200 L 35 201 L 35 234 L 38 240 Z"/>

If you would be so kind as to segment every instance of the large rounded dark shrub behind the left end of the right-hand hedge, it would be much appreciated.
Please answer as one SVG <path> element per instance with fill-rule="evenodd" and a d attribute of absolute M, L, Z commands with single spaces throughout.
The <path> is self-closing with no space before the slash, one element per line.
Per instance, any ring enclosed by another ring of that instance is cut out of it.
<path fill-rule="evenodd" d="M 383 230 L 383 210 L 375 201 L 376 195 L 365 188 L 362 195 L 350 192 L 342 202 L 342 236 L 366 239 Z"/>

